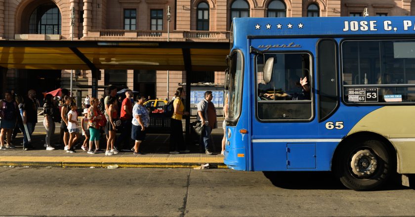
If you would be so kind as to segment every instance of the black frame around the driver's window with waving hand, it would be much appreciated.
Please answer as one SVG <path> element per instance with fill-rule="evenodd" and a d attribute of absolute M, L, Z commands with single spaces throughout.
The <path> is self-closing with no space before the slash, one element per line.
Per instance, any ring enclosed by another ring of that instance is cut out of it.
<path fill-rule="evenodd" d="M 309 72 L 309 77 L 308 77 L 308 84 L 309 84 L 309 88 L 310 88 L 310 100 L 281 100 L 281 101 L 270 101 L 268 102 L 269 104 L 271 103 L 276 103 L 276 104 L 287 104 L 289 102 L 294 102 L 294 103 L 311 103 L 311 117 L 308 119 L 260 119 L 258 117 L 258 82 L 257 82 L 257 57 L 260 54 L 256 54 L 254 56 L 254 72 L 252 73 L 254 76 L 254 93 L 255 93 L 255 119 L 258 122 L 262 122 L 262 123 L 285 123 L 285 122 L 301 122 L 301 123 L 307 123 L 307 122 L 311 122 L 314 120 L 314 118 L 316 117 L 316 110 L 315 110 L 315 97 L 314 97 L 314 72 L 315 72 L 315 66 L 314 66 L 314 55 L 311 51 L 309 50 L 284 50 L 284 51 L 269 51 L 269 52 L 263 52 L 263 54 L 308 54 L 309 58 L 310 58 L 310 72 Z M 310 82 L 311 81 L 311 82 Z M 268 104 L 266 101 L 263 102 L 264 104 Z"/>

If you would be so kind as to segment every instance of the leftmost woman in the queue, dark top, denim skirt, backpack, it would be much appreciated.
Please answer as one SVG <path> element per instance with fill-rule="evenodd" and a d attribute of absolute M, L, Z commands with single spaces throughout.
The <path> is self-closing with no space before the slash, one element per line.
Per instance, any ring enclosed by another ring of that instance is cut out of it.
<path fill-rule="evenodd" d="M 0 101 L 0 150 L 6 148 L 15 148 L 11 144 L 11 133 L 17 120 L 17 104 L 7 91 L 4 94 L 5 99 Z M 7 145 L 4 145 L 4 138 L 7 136 Z"/>

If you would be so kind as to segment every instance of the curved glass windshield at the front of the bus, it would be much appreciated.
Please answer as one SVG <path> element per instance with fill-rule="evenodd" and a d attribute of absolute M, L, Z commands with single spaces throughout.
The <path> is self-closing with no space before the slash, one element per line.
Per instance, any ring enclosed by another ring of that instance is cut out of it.
<path fill-rule="evenodd" d="M 236 119 L 241 113 L 243 57 L 240 52 L 231 55 L 229 70 L 229 113 L 230 120 Z"/>

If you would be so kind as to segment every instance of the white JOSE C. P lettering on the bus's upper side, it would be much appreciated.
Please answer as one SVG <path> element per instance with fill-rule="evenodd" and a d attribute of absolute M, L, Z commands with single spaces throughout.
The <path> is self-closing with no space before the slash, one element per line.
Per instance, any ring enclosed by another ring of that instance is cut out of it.
<path fill-rule="evenodd" d="M 411 20 L 404 20 L 403 30 L 415 30 L 415 22 Z M 398 28 L 392 24 L 392 21 L 385 20 L 383 21 L 383 30 L 384 31 L 397 31 Z M 347 31 L 377 31 L 377 21 L 375 20 L 362 20 L 362 21 L 344 21 L 343 32 Z"/>

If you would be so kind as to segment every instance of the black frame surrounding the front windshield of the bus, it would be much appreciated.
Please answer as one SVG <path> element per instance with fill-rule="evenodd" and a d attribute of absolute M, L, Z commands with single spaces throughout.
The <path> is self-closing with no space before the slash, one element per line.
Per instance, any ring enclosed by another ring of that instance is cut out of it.
<path fill-rule="evenodd" d="M 240 91 L 240 99 L 239 99 L 239 102 L 240 102 L 240 107 L 239 107 L 239 109 L 238 109 L 238 113 L 237 113 L 237 115 L 236 116 L 234 116 L 234 117 L 232 117 L 232 119 L 231 118 L 229 118 L 229 115 L 228 115 L 228 117 L 225 119 L 225 121 L 226 121 L 226 126 L 236 126 L 236 124 L 238 123 L 238 121 L 239 121 L 239 118 L 241 117 L 241 113 L 242 113 L 242 104 L 243 104 L 243 99 L 244 99 L 244 97 L 243 97 L 243 94 L 244 94 L 244 78 L 245 78 L 245 56 L 244 56 L 244 52 L 242 52 L 242 50 L 240 50 L 240 49 L 238 49 L 238 48 L 235 48 L 235 49 L 233 49 L 231 52 L 230 52 L 230 61 L 229 61 L 229 85 L 228 86 L 230 86 L 230 77 L 231 77 L 231 72 L 232 72 L 232 67 L 233 67 L 233 65 L 232 65 L 232 56 L 233 55 L 235 55 L 235 54 L 240 54 L 241 55 L 241 80 L 242 80 L 242 82 L 241 82 L 241 85 L 240 85 L 240 87 L 239 87 L 239 91 Z M 229 93 L 229 90 L 230 90 L 230 88 L 228 88 L 228 93 Z M 230 105 L 230 103 L 231 103 L 231 100 L 230 100 L 230 97 L 231 97 L 231 94 L 229 93 L 229 99 L 228 99 L 228 104 Z M 228 112 L 229 112 L 229 109 L 230 108 L 228 108 Z"/>

